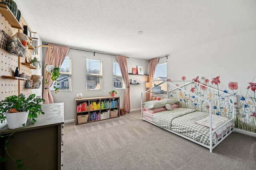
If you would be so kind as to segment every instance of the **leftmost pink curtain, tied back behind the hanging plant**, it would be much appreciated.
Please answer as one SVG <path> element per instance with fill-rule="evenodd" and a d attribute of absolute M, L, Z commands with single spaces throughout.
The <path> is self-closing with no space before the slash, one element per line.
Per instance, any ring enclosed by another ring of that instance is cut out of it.
<path fill-rule="evenodd" d="M 69 47 L 64 47 L 64 46 L 55 45 L 51 43 L 48 43 L 48 46 L 51 46 L 52 48 L 47 47 L 46 49 L 45 60 L 44 60 L 45 65 L 46 64 L 56 65 L 57 67 L 60 67 L 68 53 Z M 48 85 L 44 83 L 44 89 L 43 89 L 43 99 L 45 100 L 44 103 L 54 103 L 52 94 L 50 93 L 50 89 L 48 89 L 52 86 L 53 81 L 50 79 L 50 75 L 46 76 L 46 69 L 44 69 L 44 82 L 46 77 L 49 83 Z"/>

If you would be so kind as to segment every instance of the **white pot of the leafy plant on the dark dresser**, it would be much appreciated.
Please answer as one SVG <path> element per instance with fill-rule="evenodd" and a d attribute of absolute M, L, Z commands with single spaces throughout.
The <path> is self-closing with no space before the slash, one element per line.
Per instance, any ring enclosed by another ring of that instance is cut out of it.
<path fill-rule="evenodd" d="M 8 128 L 20 128 L 22 125 L 27 123 L 28 112 L 18 112 L 18 113 L 5 113 Z"/>

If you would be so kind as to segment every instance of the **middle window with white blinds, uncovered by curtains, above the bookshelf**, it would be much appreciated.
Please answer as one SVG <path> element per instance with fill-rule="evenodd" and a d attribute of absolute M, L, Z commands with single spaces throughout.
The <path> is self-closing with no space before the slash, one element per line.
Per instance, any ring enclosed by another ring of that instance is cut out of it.
<path fill-rule="evenodd" d="M 86 59 L 86 90 L 102 90 L 102 60 Z"/>

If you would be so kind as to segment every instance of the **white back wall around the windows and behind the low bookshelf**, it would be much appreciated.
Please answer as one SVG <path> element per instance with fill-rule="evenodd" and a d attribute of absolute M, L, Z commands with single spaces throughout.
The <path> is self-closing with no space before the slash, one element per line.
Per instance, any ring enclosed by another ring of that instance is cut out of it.
<path fill-rule="evenodd" d="M 46 48 L 44 48 L 44 56 Z M 64 102 L 64 120 L 66 122 L 71 122 L 74 120 L 74 99 L 77 93 L 82 93 L 83 97 L 99 97 L 99 96 L 109 96 L 108 92 L 113 89 L 113 72 L 112 63 L 117 61 L 116 56 L 103 55 L 96 53 L 79 51 L 74 49 L 69 49 L 68 55 L 72 57 L 72 91 L 59 92 L 55 94 L 52 92 L 54 98 L 54 103 Z M 102 90 L 86 90 L 86 57 L 92 59 L 102 60 L 103 69 L 103 87 Z M 148 60 L 128 58 L 128 72 L 132 73 L 132 67 L 141 65 L 144 67 L 145 73 L 148 73 Z M 130 101 L 131 101 L 131 111 L 140 109 L 140 94 L 146 90 L 145 82 L 147 81 L 147 76 L 142 75 L 130 75 L 130 79 L 137 79 L 140 85 L 131 85 L 130 89 Z M 120 107 L 123 106 L 124 99 L 124 89 L 115 89 L 117 91 L 117 96 L 120 97 Z"/>

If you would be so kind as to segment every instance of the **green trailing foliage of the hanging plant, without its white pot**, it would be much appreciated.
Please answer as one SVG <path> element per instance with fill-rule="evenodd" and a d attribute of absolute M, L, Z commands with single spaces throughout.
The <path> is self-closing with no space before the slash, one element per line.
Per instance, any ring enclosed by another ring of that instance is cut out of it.
<path fill-rule="evenodd" d="M 46 64 L 46 66 L 47 66 L 47 64 Z M 57 67 L 56 65 L 54 65 L 54 69 L 52 69 L 51 72 L 48 72 L 46 70 L 46 75 L 47 75 L 46 79 L 45 79 L 46 87 L 49 88 L 48 87 L 49 82 L 48 82 L 47 77 L 48 77 L 48 75 L 50 75 L 51 79 L 53 81 L 53 88 L 54 88 L 55 94 L 57 94 L 59 92 L 59 88 L 57 86 L 60 85 L 59 80 L 58 80 L 58 78 L 60 76 L 60 67 Z"/>

